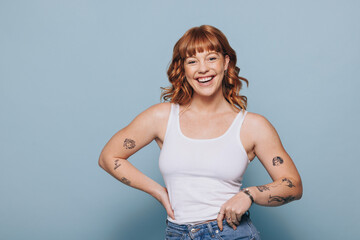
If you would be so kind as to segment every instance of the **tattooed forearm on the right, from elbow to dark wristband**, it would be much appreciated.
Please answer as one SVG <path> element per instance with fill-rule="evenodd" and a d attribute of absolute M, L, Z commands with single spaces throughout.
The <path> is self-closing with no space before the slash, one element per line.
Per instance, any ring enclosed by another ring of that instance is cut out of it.
<path fill-rule="evenodd" d="M 254 201 L 262 206 L 280 206 L 302 196 L 301 181 L 283 177 L 272 183 L 249 188 Z"/>

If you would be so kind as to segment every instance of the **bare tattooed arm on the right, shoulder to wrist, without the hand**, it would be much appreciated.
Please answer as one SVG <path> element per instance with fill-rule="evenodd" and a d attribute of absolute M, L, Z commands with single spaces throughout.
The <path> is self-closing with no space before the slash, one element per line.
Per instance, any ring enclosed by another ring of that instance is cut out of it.
<path fill-rule="evenodd" d="M 248 188 L 255 203 L 279 206 L 300 199 L 303 191 L 301 178 L 279 135 L 265 117 L 253 115 L 249 126 L 254 137 L 254 152 L 273 180 L 266 185 Z"/>

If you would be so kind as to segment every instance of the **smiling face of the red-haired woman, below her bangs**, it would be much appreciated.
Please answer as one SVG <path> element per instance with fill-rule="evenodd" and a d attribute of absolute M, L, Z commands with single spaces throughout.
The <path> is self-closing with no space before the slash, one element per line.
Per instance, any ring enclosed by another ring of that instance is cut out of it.
<path fill-rule="evenodd" d="M 188 57 L 184 62 L 185 77 L 194 89 L 194 95 L 213 96 L 222 94 L 224 71 L 229 64 L 229 56 L 218 52 L 204 51 Z"/>

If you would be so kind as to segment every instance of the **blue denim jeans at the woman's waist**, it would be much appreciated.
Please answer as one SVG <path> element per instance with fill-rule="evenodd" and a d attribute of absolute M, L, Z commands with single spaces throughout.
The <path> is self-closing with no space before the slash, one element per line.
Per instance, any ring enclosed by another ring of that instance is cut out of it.
<path fill-rule="evenodd" d="M 196 225 L 179 225 L 166 220 L 165 240 L 260 240 L 259 232 L 251 222 L 249 214 L 241 217 L 240 225 L 234 230 L 223 220 L 223 231 L 217 221 Z"/>

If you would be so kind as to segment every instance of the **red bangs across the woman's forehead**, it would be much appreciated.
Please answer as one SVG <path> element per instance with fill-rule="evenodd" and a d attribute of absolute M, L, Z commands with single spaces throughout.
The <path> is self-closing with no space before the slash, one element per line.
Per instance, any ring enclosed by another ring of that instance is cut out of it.
<path fill-rule="evenodd" d="M 204 51 L 223 52 L 221 43 L 217 37 L 203 31 L 201 28 L 189 32 L 188 36 L 184 38 L 179 50 L 182 59 L 195 56 L 196 53 L 202 53 Z"/>

